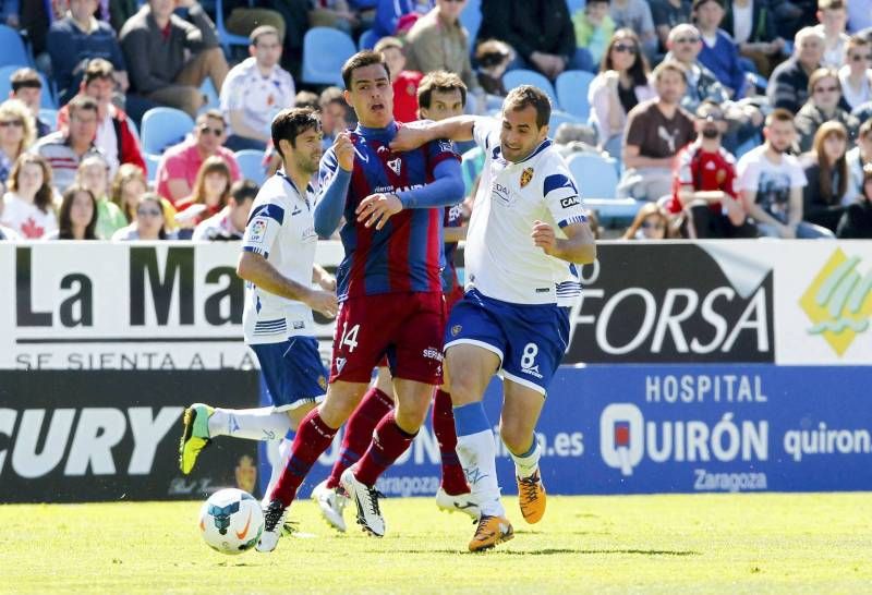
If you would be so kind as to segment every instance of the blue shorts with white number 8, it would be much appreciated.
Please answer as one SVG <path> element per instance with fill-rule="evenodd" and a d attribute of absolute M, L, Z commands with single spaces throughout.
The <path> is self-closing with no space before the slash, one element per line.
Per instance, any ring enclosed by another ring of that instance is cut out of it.
<path fill-rule="evenodd" d="M 569 309 L 510 304 L 473 289 L 451 309 L 445 327 L 446 351 L 457 344 L 496 353 L 505 379 L 545 394 L 569 344 Z"/>

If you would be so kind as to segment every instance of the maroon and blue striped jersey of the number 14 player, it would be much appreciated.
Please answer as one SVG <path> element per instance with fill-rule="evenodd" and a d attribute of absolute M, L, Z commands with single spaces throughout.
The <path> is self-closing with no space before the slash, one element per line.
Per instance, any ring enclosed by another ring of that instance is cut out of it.
<path fill-rule="evenodd" d="M 434 141 L 408 153 L 393 153 L 388 144 L 401 124 L 387 129 L 361 125 L 351 132 L 354 169 L 339 232 L 346 256 L 336 271 L 337 295 L 376 295 L 398 292 L 441 292 L 443 218 L 445 209 L 405 208 L 380 230 L 358 222 L 354 210 L 371 194 L 414 190 L 433 182 L 437 165 L 460 160 L 447 141 Z M 322 158 L 322 186 L 338 168 L 332 148 Z"/>

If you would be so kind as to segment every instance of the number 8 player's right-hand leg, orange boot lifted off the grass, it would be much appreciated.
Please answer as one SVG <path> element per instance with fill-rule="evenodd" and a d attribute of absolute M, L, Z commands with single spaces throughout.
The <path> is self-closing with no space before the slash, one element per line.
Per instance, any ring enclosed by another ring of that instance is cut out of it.
<path fill-rule="evenodd" d="M 538 471 L 542 452 L 535 429 L 545 396 L 508 379 L 502 382 L 502 392 L 499 435 L 514 460 L 521 514 L 528 523 L 537 523 L 545 514 L 545 486 Z"/>

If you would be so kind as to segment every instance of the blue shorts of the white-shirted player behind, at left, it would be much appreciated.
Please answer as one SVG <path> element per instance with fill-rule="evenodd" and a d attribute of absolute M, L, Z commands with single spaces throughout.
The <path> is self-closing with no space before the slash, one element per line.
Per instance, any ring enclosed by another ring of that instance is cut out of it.
<path fill-rule="evenodd" d="M 281 343 L 249 345 L 261 363 L 272 406 L 277 411 L 318 403 L 327 391 L 327 369 L 314 337 L 291 337 Z"/>

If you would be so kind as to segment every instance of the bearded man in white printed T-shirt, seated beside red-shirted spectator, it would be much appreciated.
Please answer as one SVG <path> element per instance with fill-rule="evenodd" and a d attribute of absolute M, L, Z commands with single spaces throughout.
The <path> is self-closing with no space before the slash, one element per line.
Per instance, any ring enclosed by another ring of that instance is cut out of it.
<path fill-rule="evenodd" d="M 766 142 L 739 159 L 737 174 L 746 211 L 762 235 L 771 238 L 826 238 L 832 233 L 802 220 L 806 173 L 787 151 L 794 145 L 794 114 L 783 108 L 766 117 Z"/>

